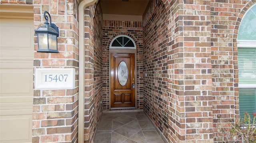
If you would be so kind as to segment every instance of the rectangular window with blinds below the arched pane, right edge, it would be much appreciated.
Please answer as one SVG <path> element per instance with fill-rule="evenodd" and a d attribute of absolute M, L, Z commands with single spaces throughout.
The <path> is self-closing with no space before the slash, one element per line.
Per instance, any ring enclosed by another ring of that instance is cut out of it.
<path fill-rule="evenodd" d="M 256 46 L 256 45 L 255 45 Z M 256 112 L 256 48 L 238 48 L 240 115 Z"/>

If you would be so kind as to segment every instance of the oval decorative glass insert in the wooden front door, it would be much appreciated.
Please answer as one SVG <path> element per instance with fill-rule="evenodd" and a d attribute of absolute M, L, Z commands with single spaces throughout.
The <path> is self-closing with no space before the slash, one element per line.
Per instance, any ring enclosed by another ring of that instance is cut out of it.
<path fill-rule="evenodd" d="M 120 62 L 117 74 L 119 83 L 124 86 L 128 79 L 128 68 L 124 61 Z"/>

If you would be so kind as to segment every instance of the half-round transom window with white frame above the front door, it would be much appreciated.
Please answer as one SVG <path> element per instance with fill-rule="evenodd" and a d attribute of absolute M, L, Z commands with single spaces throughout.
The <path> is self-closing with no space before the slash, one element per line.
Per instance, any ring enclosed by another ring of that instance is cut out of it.
<path fill-rule="evenodd" d="M 136 49 L 135 42 L 126 35 L 116 36 L 110 43 L 110 48 Z"/>

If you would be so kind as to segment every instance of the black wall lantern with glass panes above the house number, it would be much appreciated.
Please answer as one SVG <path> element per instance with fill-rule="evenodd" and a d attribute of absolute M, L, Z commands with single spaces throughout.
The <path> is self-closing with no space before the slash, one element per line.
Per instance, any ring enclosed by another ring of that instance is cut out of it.
<path fill-rule="evenodd" d="M 48 23 L 48 14 L 50 24 Z M 59 28 L 52 23 L 49 12 L 44 12 L 44 26 L 40 26 L 35 30 L 37 34 L 38 50 L 37 52 L 58 53 L 57 37 L 59 36 Z"/>

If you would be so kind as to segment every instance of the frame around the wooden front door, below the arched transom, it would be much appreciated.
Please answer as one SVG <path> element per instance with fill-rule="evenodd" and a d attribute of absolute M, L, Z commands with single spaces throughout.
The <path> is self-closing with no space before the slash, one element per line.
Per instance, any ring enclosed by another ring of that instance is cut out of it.
<path fill-rule="evenodd" d="M 108 88 L 108 92 L 109 92 L 109 109 L 111 109 L 111 80 L 110 80 L 110 76 L 111 76 L 111 71 L 110 71 L 110 65 L 111 65 L 111 54 L 134 54 L 134 81 L 135 81 L 135 91 L 134 91 L 134 102 L 135 102 L 135 109 L 137 109 L 137 49 L 127 49 L 127 48 L 110 48 L 109 49 L 109 55 L 108 55 L 108 59 L 109 59 L 109 73 L 108 73 L 108 81 L 109 81 L 109 88 Z M 120 107 L 118 109 L 133 109 L 133 107 Z"/>

